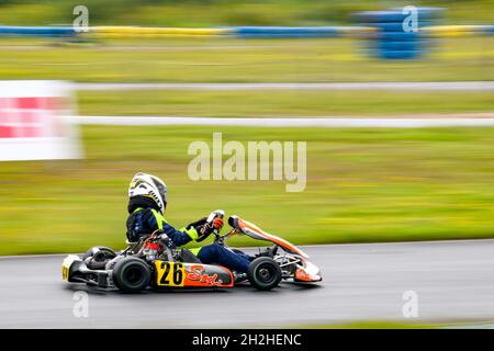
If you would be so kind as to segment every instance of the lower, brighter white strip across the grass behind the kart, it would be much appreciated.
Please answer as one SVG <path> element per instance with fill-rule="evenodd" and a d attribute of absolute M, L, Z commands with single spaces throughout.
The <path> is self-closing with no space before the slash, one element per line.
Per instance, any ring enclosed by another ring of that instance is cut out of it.
<path fill-rule="evenodd" d="M 494 118 L 221 118 L 187 116 L 76 116 L 68 122 L 81 125 L 205 125 L 262 127 L 420 128 L 494 126 Z"/>

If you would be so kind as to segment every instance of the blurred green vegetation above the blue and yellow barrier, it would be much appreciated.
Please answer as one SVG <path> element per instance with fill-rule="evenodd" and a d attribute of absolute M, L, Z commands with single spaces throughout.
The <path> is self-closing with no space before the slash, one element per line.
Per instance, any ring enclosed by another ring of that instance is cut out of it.
<path fill-rule="evenodd" d="M 49 25 L 71 23 L 72 8 L 80 2 L 4 0 L 0 22 Z M 355 11 L 382 10 L 403 5 L 401 1 L 371 0 L 86 0 L 90 23 L 177 26 L 211 25 L 324 25 L 348 24 Z M 415 5 L 446 8 L 449 23 L 490 23 L 492 1 L 416 0 Z"/>

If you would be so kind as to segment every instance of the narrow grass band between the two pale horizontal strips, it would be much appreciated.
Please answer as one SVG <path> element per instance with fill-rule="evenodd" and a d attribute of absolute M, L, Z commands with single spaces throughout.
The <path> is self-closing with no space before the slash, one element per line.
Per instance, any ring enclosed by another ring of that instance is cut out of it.
<path fill-rule="evenodd" d="M 395 115 L 494 111 L 491 92 L 120 91 L 79 92 L 81 115 L 220 117 Z"/>

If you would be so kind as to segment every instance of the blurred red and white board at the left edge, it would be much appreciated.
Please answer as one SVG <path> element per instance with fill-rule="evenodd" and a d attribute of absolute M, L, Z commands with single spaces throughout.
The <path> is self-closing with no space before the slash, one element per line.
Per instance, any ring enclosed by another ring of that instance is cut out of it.
<path fill-rule="evenodd" d="M 79 158 L 71 88 L 63 81 L 0 81 L 0 161 Z"/>

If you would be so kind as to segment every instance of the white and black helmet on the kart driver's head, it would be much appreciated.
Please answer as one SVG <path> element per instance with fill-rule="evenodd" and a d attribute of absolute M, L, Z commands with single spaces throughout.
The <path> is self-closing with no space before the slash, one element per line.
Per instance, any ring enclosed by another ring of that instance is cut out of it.
<path fill-rule="evenodd" d="M 164 213 L 167 206 L 167 184 L 158 177 L 136 173 L 128 185 L 128 197 L 134 196 L 151 199 Z"/>

